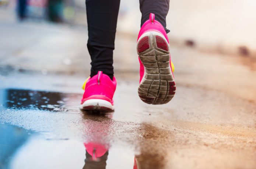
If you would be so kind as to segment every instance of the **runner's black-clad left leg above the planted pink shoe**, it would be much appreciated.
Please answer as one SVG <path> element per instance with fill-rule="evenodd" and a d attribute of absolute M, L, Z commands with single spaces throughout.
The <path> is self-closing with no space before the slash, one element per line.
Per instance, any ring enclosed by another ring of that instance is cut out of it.
<path fill-rule="evenodd" d="M 86 0 L 91 77 L 102 71 L 113 79 L 113 50 L 120 0 Z"/>

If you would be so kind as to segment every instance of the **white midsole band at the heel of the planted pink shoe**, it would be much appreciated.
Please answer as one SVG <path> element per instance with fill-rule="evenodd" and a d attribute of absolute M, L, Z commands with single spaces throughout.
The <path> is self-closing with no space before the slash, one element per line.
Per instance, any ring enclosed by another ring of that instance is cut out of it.
<path fill-rule="evenodd" d="M 106 107 L 109 109 L 114 109 L 114 107 L 112 106 L 112 104 L 106 100 L 102 100 L 102 99 L 90 99 L 85 101 L 83 104 L 80 105 L 80 109 L 84 109 L 84 107 L 87 106 L 94 106 L 95 109 L 100 109 L 100 107 Z"/>

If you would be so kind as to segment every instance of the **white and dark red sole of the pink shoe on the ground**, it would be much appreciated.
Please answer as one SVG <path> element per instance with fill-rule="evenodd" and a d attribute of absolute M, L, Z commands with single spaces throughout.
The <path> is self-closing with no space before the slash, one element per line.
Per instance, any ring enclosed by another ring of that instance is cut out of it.
<path fill-rule="evenodd" d="M 106 100 L 90 99 L 80 105 L 83 110 L 96 110 L 96 111 L 113 111 L 113 106 Z"/>

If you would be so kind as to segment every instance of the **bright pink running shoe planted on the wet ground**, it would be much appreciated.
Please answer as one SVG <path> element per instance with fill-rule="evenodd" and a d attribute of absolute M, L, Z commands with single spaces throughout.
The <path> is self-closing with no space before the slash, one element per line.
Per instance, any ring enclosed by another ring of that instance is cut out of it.
<path fill-rule="evenodd" d="M 98 71 L 98 74 L 85 80 L 84 95 L 81 100 L 80 109 L 112 111 L 113 95 L 116 90 L 116 78 L 113 81 L 108 75 Z"/>

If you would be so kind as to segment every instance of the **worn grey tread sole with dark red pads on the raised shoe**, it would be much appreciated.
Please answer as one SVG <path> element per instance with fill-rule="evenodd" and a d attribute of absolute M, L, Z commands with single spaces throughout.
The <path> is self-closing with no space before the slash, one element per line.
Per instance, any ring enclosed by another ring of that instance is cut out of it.
<path fill-rule="evenodd" d="M 145 67 L 138 87 L 140 99 L 148 104 L 168 103 L 176 91 L 168 44 L 161 36 L 150 33 L 138 41 L 137 53 Z"/>

